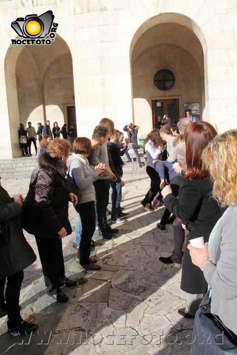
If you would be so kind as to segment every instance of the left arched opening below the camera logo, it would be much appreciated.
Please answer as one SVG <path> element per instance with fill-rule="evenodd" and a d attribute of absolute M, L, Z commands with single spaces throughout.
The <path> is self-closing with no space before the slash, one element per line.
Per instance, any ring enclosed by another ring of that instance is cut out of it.
<path fill-rule="evenodd" d="M 73 63 L 67 43 L 56 35 L 50 45 L 10 46 L 5 64 L 12 157 L 20 157 L 19 123 L 57 121 L 62 127 L 65 106 L 74 108 Z M 70 122 L 69 122 L 70 123 Z"/>

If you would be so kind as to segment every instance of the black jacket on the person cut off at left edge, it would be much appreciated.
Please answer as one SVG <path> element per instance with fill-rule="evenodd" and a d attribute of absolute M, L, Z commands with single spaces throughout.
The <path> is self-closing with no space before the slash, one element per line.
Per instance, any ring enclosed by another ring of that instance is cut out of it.
<path fill-rule="evenodd" d="M 36 260 L 22 232 L 21 213 L 21 206 L 0 186 L 0 223 L 5 231 L 4 240 L 0 235 L 0 279 L 25 269 Z"/>

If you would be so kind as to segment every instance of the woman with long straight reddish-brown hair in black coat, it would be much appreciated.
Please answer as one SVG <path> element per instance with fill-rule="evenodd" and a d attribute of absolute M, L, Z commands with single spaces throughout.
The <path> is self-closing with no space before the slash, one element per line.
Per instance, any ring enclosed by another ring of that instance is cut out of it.
<path fill-rule="evenodd" d="M 207 283 L 201 270 L 192 263 L 187 246 L 191 239 L 204 237 L 208 242 L 210 232 L 221 216 L 218 203 L 211 197 L 212 183 L 209 172 L 201 161 L 201 152 L 217 132 L 208 122 L 191 123 L 185 130 L 187 174 L 180 186 L 179 199 L 170 186 L 162 190 L 165 207 L 182 219 L 189 231 L 183 258 L 181 289 L 187 292 L 187 306 L 178 310 L 184 317 L 194 317 Z"/>

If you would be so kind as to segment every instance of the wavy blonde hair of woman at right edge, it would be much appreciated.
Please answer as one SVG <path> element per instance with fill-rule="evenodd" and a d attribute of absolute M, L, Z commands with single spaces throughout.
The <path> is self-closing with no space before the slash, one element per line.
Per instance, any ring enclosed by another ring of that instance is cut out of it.
<path fill-rule="evenodd" d="M 216 136 L 203 150 L 202 161 L 213 179 L 213 197 L 221 207 L 237 204 L 237 130 Z"/>

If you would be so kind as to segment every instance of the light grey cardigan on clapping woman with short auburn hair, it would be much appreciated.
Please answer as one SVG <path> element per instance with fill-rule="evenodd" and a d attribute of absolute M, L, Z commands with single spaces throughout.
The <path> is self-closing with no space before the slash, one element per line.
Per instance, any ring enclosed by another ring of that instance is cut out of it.
<path fill-rule="evenodd" d="M 79 189 L 82 190 L 79 204 L 94 201 L 95 190 L 92 186 L 92 182 L 98 179 L 98 175 L 92 172 L 88 160 L 85 159 L 86 164 L 84 164 L 81 159 L 76 154 L 73 154 L 69 170 L 69 175 L 75 179 Z"/>

